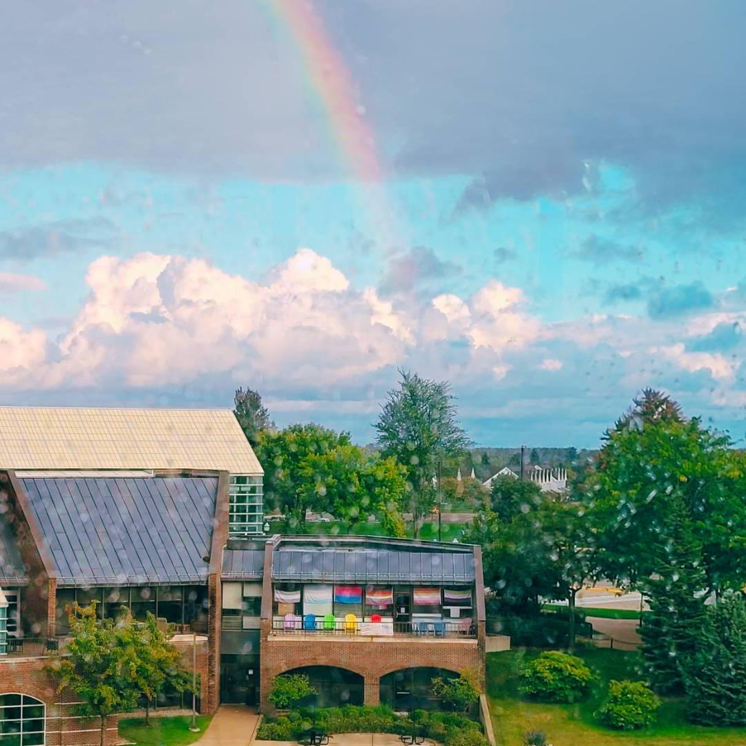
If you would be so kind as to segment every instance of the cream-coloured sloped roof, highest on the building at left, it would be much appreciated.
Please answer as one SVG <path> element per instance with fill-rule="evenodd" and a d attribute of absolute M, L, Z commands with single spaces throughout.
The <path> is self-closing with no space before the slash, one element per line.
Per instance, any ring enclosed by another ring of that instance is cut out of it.
<path fill-rule="evenodd" d="M 231 410 L 0 407 L 0 468 L 263 474 Z"/>

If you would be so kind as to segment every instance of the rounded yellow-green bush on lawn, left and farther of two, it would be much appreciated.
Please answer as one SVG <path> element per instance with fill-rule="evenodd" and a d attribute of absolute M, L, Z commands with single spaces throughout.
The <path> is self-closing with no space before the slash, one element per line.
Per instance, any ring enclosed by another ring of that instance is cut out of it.
<path fill-rule="evenodd" d="M 543 702 L 577 702 L 588 694 L 594 680 L 590 668 L 567 653 L 549 651 L 524 664 L 518 688 Z"/>

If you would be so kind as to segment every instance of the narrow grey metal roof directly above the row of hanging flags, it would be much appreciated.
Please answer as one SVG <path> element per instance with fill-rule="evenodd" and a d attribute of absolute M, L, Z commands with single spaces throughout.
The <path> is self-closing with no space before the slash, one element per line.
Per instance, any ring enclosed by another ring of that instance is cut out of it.
<path fill-rule="evenodd" d="M 472 583 L 474 554 L 280 548 L 272 554 L 272 578 L 355 583 Z"/>

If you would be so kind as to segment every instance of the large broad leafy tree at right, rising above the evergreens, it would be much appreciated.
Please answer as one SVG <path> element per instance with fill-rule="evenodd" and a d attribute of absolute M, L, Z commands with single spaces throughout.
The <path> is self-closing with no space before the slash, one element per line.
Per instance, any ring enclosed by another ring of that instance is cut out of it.
<path fill-rule="evenodd" d="M 606 434 L 584 485 L 606 576 L 636 586 L 658 573 L 658 539 L 680 504 L 701 546 L 706 589 L 738 588 L 746 564 L 739 539 L 746 534 L 746 457 L 656 392 L 636 408 Z"/>

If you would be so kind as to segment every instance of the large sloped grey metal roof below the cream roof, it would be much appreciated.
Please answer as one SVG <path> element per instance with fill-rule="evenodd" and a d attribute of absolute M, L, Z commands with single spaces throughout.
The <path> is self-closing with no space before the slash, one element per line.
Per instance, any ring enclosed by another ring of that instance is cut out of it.
<path fill-rule="evenodd" d="M 60 586 L 207 580 L 217 477 L 20 482 Z"/>

